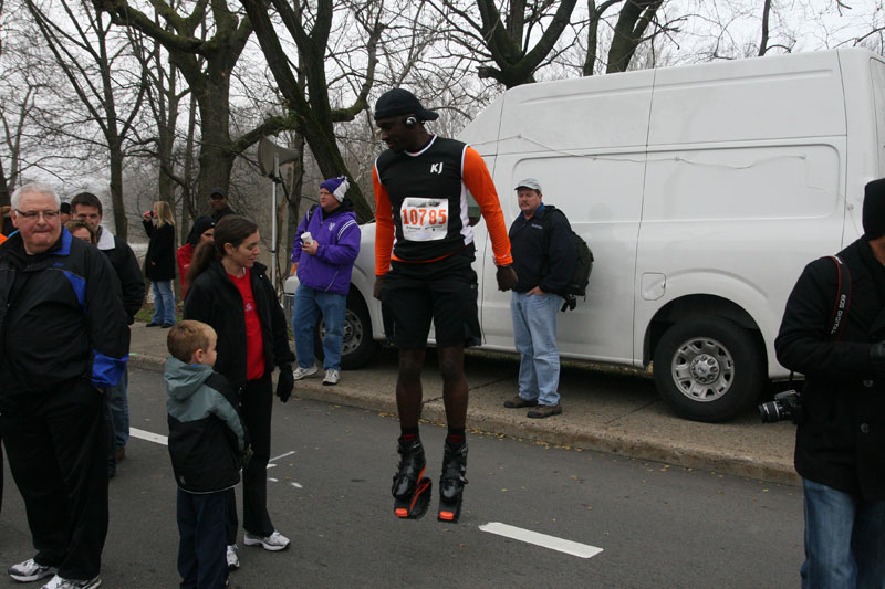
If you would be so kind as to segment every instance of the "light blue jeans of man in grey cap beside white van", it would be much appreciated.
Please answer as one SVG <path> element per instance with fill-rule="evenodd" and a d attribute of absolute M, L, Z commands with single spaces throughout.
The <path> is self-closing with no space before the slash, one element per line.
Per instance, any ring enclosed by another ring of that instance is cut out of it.
<path fill-rule="evenodd" d="M 520 355 L 519 396 L 527 401 L 560 402 L 556 312 L 561 304 L 562 298 L 554 294 L 513 293 L 510 297 L 513 341 Z"/>

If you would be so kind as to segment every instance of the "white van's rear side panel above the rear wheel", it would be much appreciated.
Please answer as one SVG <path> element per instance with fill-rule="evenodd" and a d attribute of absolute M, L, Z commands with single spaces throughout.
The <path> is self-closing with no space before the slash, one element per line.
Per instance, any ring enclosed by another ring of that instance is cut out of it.
<path fill-rule="evenodd" d="M 637 286 L 656 288 L 635 299 L 637 364 L 658 312 L 701 295 L 708 312 L 746 312 L 769 375 L 785 374 L 773 338 L 787 297 L 842 242 L 846 129 L 834 51 L 658 72 L 636 264 Z"/>

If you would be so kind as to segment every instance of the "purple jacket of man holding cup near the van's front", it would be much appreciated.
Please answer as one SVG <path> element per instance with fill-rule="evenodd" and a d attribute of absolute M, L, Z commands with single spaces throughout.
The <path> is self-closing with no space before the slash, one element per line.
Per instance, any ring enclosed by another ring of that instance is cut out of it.
<path fill-rule="evenodd" d="M 301 234 L 305 231 L 310 231 L 320 243 L 316 255 L 301 251 Z M 316 207 L 310 220 L 305 214 L 292 244 L 292 262 L 298 263 L 299 282 L 317 291 L 342 295 L 351 290 L 353 263 L 358 253 L 360 225 L 356 224 L 353 203 L 347 198 L 332 212 Z"/>

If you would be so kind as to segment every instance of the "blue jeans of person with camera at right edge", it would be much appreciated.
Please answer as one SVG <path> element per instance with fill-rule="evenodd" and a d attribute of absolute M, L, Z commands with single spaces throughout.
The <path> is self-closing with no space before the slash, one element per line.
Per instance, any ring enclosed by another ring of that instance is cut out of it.
<path fill-rule="evenodd" d="M 885 501 L 802 480 L 805 494 L 803 589 L 885 587 Z"/>

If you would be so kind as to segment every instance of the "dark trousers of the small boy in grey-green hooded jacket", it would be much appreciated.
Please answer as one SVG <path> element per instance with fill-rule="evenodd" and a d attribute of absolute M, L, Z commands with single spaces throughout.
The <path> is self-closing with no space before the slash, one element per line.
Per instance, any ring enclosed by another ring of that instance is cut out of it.
<path fill-rule="evenodd" d="M 178 574 L 180 589 L 219 589 L 228 579 L 227 506 L 233 490 L 186 493 L 178 490 Z"/>

